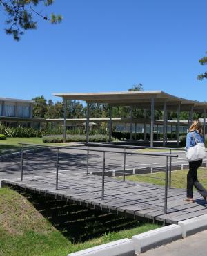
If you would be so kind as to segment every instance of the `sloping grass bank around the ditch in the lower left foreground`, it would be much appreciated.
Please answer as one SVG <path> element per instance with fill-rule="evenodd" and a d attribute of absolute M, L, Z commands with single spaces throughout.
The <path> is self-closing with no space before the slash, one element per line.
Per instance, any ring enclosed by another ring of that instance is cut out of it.
<path fill-rule="evenodd" d="M 34 208 L 31 201 L 10 188 L 0 189 L 0 255 L 63 256 L 109 241 L 130 238 L 132 235 L 159 227 L 156 224 L 136 221 L 137 224 L 133 228 L 107 232 L 75 244 L 52 226 L 48 219 Z"/>

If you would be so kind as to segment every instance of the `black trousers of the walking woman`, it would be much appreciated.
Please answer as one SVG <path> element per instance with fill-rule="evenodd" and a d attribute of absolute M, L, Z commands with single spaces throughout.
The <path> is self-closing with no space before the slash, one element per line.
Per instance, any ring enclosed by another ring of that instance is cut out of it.
<path fill-rule="evenodd" d="M 207 191 L 197 180 L 197 170 L 202 164 L 202 160 L 189 162 L 189 171 L 187 175 L 187 197 L 193 198 L 193 185 L 197 188 L 197 191 L 201 196 L 206 199 Z"/>

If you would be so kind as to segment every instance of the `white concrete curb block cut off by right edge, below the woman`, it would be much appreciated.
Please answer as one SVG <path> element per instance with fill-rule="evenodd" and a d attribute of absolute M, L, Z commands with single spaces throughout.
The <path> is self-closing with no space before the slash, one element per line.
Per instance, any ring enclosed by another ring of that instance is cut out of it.
<path fill-rule="evenodd" d="M 185 238 L 197 232 L 207 229 L 207 214 L 186 219 L 186 221 L 179 221 L 178 225 L 181 227 L 182 236 Z"/>

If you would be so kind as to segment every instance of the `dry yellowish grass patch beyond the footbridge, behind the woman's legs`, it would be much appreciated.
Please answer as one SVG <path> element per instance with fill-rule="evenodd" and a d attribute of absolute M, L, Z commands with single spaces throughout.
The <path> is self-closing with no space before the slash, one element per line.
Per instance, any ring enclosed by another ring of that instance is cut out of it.
<path fill-rule="evenodd" d="M 187 174 L 188 170 L 172 171 L 171 184 L 172 188 L 186 188 L 187 186 Z M 199 168 L 197 171 L 198 179 L 207 188 L 207 168 Z M 144 174 L 126 176 L 128 181 L 140 181 L 146 183 L 153 183 L 156 185 L 165 185 L 165 172 L 156 172 L 154 174 Z"/>

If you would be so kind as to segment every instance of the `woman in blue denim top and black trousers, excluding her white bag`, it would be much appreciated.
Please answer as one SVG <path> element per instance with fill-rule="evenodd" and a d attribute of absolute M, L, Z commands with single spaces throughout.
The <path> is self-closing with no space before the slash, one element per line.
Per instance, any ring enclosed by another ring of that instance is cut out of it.
<path fill-rule="evenodd" d="M 188 151 L 189 147 L 194 147 L 197 143 L 204 143 L 204 136 L 202 135 L 202 124 L 199 120 L 193 122 L 188 130 L 186 137 L 186 150 Z M 189 171 L 187 175 L 187 198 L 184 201 L 193 203 L 193 185 L 197 188 L 197 191 L 207 200 L 207 191 L 199 183 L 197 179 L 197 170 L 202 164 L 202 159 L 189 162 Z"/>

